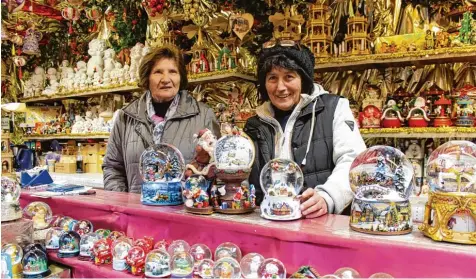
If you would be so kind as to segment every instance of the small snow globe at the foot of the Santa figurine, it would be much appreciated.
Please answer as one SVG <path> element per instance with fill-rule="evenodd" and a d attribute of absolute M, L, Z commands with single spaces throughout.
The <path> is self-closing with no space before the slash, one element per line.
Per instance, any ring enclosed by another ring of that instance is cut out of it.
<path fill-rule="evenodd" d="M 208 187 L 210 182 L 202 175 L 192 175 L 185 181 L 182 191 L 185 199 L 185 210 L 196 214 L 212 214 Z"/>

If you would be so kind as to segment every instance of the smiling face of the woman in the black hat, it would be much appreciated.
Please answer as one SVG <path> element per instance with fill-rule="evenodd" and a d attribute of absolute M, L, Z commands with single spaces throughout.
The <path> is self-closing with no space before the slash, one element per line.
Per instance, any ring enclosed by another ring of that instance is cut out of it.
<path fill-rule="evenodd" d="M 271 103 L 280 110 L 291 110 L 301 99 L 301 76 L 296 71 L 273 68 L 266 75 L 266 91 Z"/>

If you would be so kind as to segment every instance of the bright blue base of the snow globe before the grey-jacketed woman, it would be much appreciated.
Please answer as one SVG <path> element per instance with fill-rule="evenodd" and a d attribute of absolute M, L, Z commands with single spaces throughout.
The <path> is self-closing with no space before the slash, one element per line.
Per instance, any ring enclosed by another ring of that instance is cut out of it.
<path fill-rule="evenodd" d="M 182 204 L 182 183 L 180 181 L 144 182 L 142 183 L 141 202 L 145 205 Z"/>

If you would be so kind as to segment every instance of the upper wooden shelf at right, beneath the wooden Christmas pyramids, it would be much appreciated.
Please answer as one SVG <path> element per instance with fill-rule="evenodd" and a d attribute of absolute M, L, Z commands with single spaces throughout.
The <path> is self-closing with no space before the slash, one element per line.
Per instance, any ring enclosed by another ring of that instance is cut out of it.
<path fill-rule="evenodd" d="M 321 58 L 316 72 L 338 72 L 429 64 L 476 62 L 476 46 L 420 50 L 404 53 L 381 53 L 347 57 Z"/>

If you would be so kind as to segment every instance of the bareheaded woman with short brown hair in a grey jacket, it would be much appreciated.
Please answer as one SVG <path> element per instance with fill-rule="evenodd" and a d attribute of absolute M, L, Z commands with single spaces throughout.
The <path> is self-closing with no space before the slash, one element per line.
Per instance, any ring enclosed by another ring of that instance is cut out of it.
<path fill-rule="evenodd" d="M 147 54 L 139 68 L 141 98 L 121 109 L 114 121 L 104 157 L 104 189 L 141 192 L 139 160 L 157 143 L 177 147 L 190 162 L 194 134 L 203 128 L 219 135 L 212 109 L 197 102 L 186 90 L 187 72 L 182 53 L 171 46 Z"/>

